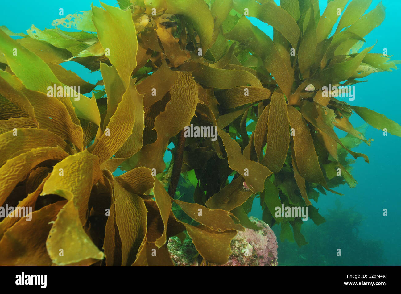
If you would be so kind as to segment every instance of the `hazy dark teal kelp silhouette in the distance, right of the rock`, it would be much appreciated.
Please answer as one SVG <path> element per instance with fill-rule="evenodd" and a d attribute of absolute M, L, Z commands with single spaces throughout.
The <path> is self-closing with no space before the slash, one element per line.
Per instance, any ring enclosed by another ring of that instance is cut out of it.
<path fill-rule="evenodd" d="M 297 248 L 293 243 L 280 243 L 281 265 L 286 266 L 383 266 L 383 241 L 359 236 L 365 217 L 345 209 L 336 199 L 333 210 L 328 210 L 326 223 L 319 227 L 305 225 L 302 230 L 309 244 Z M 333 233 L 335 232 L 335 233 Z M 372 233 L 372 235 L 375 235 Z M 340 249 L 340 251 L 338 250 Z M 341 254 L 341 255 L 339 255 Z M 339 257 L 341 256 L 341 257 Z"/>

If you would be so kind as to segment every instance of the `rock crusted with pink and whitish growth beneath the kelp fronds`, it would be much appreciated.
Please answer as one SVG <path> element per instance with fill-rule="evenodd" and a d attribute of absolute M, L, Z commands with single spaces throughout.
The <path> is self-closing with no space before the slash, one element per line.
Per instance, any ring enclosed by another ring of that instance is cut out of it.
<path fill-rule="evenodd" d="M 255 217 L 249 219 L 260 229 L 239 231 L 231 240 L 232 252 L 228 262 L 219 266 L 277 266 L 278 246 L 274 232 L 264 221 Z M 202 263 L 203 258 L 189 237 L 183 243 L 178 237 L 171 237 L 168 250 L 176 266 L 199 266 Z"/>

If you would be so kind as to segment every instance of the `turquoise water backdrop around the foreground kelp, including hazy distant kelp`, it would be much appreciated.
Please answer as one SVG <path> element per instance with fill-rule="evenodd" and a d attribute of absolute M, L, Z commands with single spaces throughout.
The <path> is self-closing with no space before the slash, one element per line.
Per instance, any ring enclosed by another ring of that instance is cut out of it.
<path fill-rule="evenodd" d="M 79 11 L 90 10 L 90 0 L 69 1 L 12 1 L 2 2 L 0 16 L 2 25 L 13 32 L 25 32 L 32 24 L 37 28 L 53 28 L 51 23 L 60 18 L 59 9 L 64 9 L 64 16 Z M 115 0 L 104 0 L 105 4 L 117 6 Z M 275 0 L 279 4 L 279 0 Z M 369 12 L 379 3 L 373 0 L 367 10 Z M 401 59 L 401 40 L 399 32 L 399 11 L 401 1 L 383 0 L 386 7 L 386 17 L 383 23 L 365 37 L 362 49 L 374 45 L 371 53 L 383 53 L 387 48 L 392 60 Z M 100 6 L 99 2 L 93 2 Z M 326 8 L 327 1 L 320 0 L 320 12 Z M 347 7 L 347 6 L 346 6 Z M 269 36 L 273 35 L 271 26 L 249 18 Z M 335 28 L 336 26 L 334 26 Z M 68 30 L 65 28 L 65 30 Z M 71 29 L 73 31 L 73 29 Z M 13 37 L 18 39 L 19 37 Z M 101 79 L 100 71 L 91 73 L 89 69 L 75 62 L 61 63 L 65 69 L 72 70 L 89 83 L 96 83 Z M 385 114 L 391 120 L 401 124 L 401 95 L 399 83 L 401 71 L 392 73 L 381 72 L 369 75 L 367 83 L 355 85 L 355 100 L 351 105 L 367 107 Z M 101 89 L 97 86 L 95 89 Z M 86 94 L 86 95 L 91 95 Z M 351 116 L 350 122 L 354 126 L 361 126 L 365 122 L 358 116 Z M 345 136 L 345 132 L 336 129 L 338 137 Z M 305 236 L 308 245 L 299 248 L 296 243 L 279 240 L 280 227 L 274 225 L 273 231 L 277 235 L 279 266 L 286 265 L 366 265 L 366 266 L 399 266 L 401 229 L 399 215 L 401 215 L 401 193 L 399 189 L 401 175 L 400 145 L 401 138 L 388 134 L 369 126 L 367 138 L 372 138 L 371 146 L 360 144 L 355 152 L 369 156 L 370 163 L 358 158 L 353 164 L 352 174 L 358 181 L 356 188 L 341 185 L 336 191 L 344 194 L 338 196 L 327 191 L 321 195 L 318 203 L 313 203 L 319 209 L 326 222 L 316 226 L 311 219 L 302 226 L 301 233 Z M 172 146 L 169 146 L 170 148 Z M 171 160 L 170 152 L 166 152 L 165 162 Z M 118 176 L 122 171 L 117 169 L 113 174 Z M 180 190 L 181 189 L 181 190 Z M 178 184 L 178 193 L 183 191 Z M 383 209 L 388 210 L 388 216 L 383 216 Z M 262 218 L 259 199 L 255 199 L 249 216 Z M 336 249 L 341 248 L 342 256 L 336 256 Z"/>

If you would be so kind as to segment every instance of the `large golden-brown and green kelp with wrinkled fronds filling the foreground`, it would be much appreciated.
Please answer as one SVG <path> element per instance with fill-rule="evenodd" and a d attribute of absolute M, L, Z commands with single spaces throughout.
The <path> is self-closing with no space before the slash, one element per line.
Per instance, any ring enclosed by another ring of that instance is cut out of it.
<path fill-rule="evenodd" d="M 309 199 L 355 187 L 346 157 L 368 161 L 351 148 L 370 140 L 352 112 L 401 136 L 324 87 L 396 67 L 373 46 L 358 52 L 384 19 L 381 3 L 364 14 L 371 0 L 345 11 L 348 0 L 332 0 L 322 16 L 316 0 L 280 3 L 122 0 L 27 35 L 2 26 L 0 205 L 16 210 L 0 222 L 0 264 L 173 265 L 166 243 L 184 231 L 207 263 L 224 264 L 237 231 L 255 229 L 255 198 L 282 239 L 305 244 L 302 220 L 275 207 L 308 206 L 318 225 Z M 249 17 L 273 26 L 273 40 Z M 102 80 L 83 81 L 65 61 Z M 217 140 L 186 138 L 191 124 L 216 127 Z M 179 179 L 192 185 L 188 201 L 176 197 Z"/>

